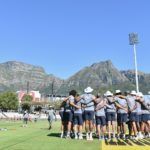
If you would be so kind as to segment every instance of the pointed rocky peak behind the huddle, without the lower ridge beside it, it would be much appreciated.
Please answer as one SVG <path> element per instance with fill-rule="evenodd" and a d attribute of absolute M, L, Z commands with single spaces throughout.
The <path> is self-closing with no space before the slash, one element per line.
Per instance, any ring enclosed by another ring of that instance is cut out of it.
<path fill-rule="evenodd" d="M 59 92 L 66 92 L 70 89 L 82 91 L 87 86 L 98 90 L 102 87 L 110 87 L 124 82 L 129 82 L 129 79 L 108 60 L 83 68 L 66 80 Z"/>

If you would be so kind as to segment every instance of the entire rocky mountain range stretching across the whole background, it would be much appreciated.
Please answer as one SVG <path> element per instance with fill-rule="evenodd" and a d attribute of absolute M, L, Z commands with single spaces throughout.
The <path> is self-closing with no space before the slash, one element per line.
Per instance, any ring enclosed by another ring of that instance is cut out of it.
<path fill-rule="evenodd" d="M 0 91 L 39 90 L 43 94 L 67 94 L 71 89 L 83 92 L 87 86 L 95 91 L 135 89 L 134 70 L 119 71 L 110 60 L 94 63 L 75 73 L 67 80 L 48 75 L 40 66 L 9 61 L 0 64 Z M 139 72 L 142 92 L 150 91 L 150 74 Z"/>

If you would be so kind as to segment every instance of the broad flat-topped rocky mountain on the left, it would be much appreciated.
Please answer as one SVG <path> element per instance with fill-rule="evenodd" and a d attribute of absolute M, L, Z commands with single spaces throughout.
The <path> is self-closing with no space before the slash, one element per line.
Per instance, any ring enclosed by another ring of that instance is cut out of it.
<path fill-rule="evenodd" d="M 55 82 L 58 89 L 62 79 L 46 74 L 40 66 L 23 62 L 8 61 L 0 64 L 0 91 L 4 90 L 37 90 L 43 91 Z M 27 87 L 28 84 L 28 87 Z M 49 89 L 50 91 L 50 89 Z"/>

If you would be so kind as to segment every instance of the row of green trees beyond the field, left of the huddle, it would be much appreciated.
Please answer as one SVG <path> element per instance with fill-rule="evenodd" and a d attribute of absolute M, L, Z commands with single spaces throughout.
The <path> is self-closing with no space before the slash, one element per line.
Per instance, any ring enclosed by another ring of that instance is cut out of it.
<path fill-rule="evenodd" d="M 50 101 L 50 102 L 33 102 L 33 97 L 25 94 L 22 97 L 21 103 L 19 104 L 18 96 L 15 92 L 3 92 L 0 93 L 0 109 L 2 111 L 15 110 L 18 111 L 19 108 L 21 110 L 31 111 L 32 106 L 34 106 L 34 110 L 32 111 L 40 111 L 43 106 L 53 106 L 55 109 L 59 109 L 62 101 Z"/>

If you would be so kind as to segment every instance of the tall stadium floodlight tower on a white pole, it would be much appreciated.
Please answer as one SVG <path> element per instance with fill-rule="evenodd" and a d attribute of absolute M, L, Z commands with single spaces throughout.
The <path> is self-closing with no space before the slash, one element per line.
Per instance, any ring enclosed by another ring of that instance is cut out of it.
<path fill-rule="evenodd" d="M 136 44 L 138 44 L 138 34 L 137 33 L 129 34 L 129 43 L 130 43 L 130 45 L 133 45 L 133 49 L 134 49 L 136 92 L 139 92 L 137 57 L 136 57 Z"/>

